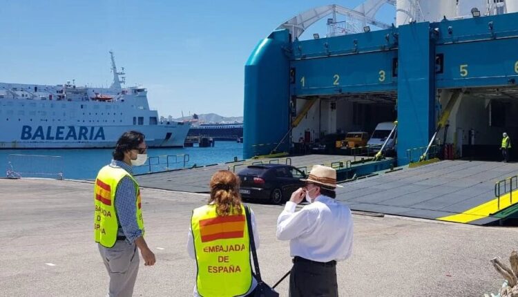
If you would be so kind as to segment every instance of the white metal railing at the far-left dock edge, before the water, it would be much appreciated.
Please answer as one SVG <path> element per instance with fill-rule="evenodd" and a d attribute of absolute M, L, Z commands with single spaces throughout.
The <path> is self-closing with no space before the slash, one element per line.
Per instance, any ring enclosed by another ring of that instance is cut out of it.
<path fill-rule="evenodd" d="M 59 155 L 10 154 L 7 161 L 8 178 L 64 178 L 63 159 Z"/>

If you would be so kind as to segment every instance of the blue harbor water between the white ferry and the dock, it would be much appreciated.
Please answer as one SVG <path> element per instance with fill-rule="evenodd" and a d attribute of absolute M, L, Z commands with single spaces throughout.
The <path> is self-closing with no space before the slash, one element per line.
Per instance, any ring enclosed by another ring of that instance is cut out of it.
<path fill-rule="evenodd" d="M 215 142 L 211 147 L 149 148 L 148 161 L 133 167 L 135 174 L 182 169 L 242 160 L 242 143 Z M 1 150 L 0 165 L 21 177 L 93 180 L 111 160 L 112 149 Z M 167 157 L 169 156 L 169 157 Z M 169 161 L 169 162 L 168 162 Z M 151 165 L 150 165 L 151 164 Z M 0 167 L 1 168 L 1 167 Z M 5 177 L 6 173 L 1 176 Z"/>

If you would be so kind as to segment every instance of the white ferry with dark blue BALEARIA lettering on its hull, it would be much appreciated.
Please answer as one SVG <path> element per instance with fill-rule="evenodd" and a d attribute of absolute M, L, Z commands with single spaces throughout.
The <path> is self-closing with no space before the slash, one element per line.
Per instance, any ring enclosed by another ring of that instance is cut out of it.
<path fill-rule="evenodd" d="M 149 147 L 184 146 L 190 123 L 160 122 L 146 88 L 122 88 L 124 67 L 117 71 L 110 55 L 110 88 L 0 82 L 0 148 L 113 148 L 129 130 Z"/>

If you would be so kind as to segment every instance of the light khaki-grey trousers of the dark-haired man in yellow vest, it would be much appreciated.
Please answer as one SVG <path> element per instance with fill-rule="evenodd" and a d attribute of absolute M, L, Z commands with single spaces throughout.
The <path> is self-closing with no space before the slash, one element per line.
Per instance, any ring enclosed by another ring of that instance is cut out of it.
<path fill-rule="evenodd" d="M 135 243 L 128 245 L 124 240 L 117 240 L 111 248 L 99 245 L 99 253 L 110 276 L 106 297 L 133 296 L 140 261 Z"/>

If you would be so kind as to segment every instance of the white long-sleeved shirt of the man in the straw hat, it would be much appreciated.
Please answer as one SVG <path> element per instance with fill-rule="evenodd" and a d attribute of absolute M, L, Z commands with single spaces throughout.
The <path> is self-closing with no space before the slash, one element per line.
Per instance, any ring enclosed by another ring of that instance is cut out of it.
<path fill-rule="evenodd" d="M 324 195 L 297 212 L 296 205 L 286 202 L 277 219 L 277 239 L 289 240 L 291 256 L 318 262 L 351 256 L 353 222 L 349 207 Z"/>

